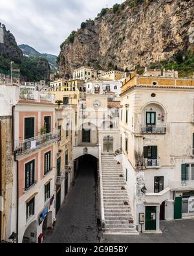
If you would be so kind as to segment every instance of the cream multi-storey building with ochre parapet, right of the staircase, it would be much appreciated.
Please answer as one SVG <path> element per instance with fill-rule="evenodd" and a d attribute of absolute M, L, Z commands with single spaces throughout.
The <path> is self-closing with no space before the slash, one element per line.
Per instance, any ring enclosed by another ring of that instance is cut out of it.
<path fill-rule="evenodd" d="M 123 165 L 135 222 L 194 216 L 194 80 L 131 76 L 122 87 Z M 141 217 L 141 218 L 140 218 Z"/>

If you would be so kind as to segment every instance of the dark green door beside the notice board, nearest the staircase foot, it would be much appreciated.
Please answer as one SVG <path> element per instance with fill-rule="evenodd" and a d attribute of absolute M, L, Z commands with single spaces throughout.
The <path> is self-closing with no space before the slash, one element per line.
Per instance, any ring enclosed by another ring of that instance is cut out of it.
<path fill-rule="evenodd" d="M 156 206 L 146 207 L 146 230 L 156 230 Z"/>

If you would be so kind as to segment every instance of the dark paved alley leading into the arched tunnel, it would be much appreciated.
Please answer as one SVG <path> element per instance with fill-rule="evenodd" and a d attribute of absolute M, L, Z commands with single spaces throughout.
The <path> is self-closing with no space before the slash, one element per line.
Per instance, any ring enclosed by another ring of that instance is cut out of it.
<path fill-rule="evenodd" d="M 48 231 L 45 243 L 98 242 L 95 200 L 95 161 L 83 157 L 74 187 L 61 205 L 54 231 Z"/>

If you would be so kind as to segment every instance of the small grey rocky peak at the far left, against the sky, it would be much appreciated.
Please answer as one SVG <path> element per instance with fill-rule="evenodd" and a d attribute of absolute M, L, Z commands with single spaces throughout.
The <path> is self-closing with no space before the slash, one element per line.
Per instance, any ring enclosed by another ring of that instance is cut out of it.
<path fill-rule="evenodd" d="M 23 56 L 22 51 L 17 47 L 16 39 L 10 31 L 6 30 L 6 27 L 0 25 L 1 41 L 0 41 L 0 56 L 4 58 L 19 58 Z"/>

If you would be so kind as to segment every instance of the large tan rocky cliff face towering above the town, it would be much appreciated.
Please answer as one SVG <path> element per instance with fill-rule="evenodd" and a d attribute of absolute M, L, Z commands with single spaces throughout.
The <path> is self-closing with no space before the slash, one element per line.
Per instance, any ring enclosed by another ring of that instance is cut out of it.
<path fill-rule="evenodd" d="M 72 75 L 81 65 L 133 69 L 167 60 L 191 46 L 193 0 L 128 0 L 115 9 L 104 9 L 61 45 L 61 76 Z"/>

